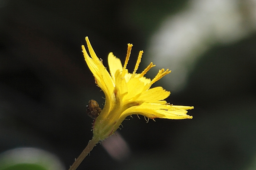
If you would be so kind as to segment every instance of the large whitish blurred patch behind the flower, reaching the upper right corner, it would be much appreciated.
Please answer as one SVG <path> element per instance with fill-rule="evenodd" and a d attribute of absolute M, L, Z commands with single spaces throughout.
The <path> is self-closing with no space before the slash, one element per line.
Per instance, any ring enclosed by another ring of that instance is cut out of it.
<path fill-rule="evenodd" d="M 243 39 L 255 29 L 256 0 L 192 0 L 152 36 L 148 62 L 172 70 L 163 79 L 171 91 L 179 91 L 200 54 L 214 44 Z"/>

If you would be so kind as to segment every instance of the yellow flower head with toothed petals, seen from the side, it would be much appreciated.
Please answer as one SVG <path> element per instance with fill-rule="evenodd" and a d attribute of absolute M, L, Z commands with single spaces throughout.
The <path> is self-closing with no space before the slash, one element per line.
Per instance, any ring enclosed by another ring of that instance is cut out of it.
<path fill-rule="evenodd" d="M 175 106 L 164 101 L 170 95 L 169 91 L 162 87 L 150 89 L 151 85 L 160 80 L 171 71 L 168 69 L 159 70 L 153 80 L 144 75 L 155 65 L 151 62 L 149 66 L 140 74 L 136 71 L 139 67 L 143 51 L 140 51 L 137 63 L 133 73 L 129 73 L 126 69 L 132 44 L 128 44 L 128 51 L 124 66 L 120 59 L 116 58 L 113 53 L 108 55 L 108 73 L 103 61 L 99 59 L 88 37 L 85 38 L 89 53 L 82 46 L 85 61 L 95 77 L 96 84 L 103 90 L 106 103 L 99 117 L 93 124 L 93 137 L 104 140 L 111 136 L 121 125 L 127 116 L 137 114 L 143 115 L 150 119 L 167 118 L 167 119 L 187 119 L 192 116 L 187 115 L 187 110 L 193 109 L 193 106 Z"/>

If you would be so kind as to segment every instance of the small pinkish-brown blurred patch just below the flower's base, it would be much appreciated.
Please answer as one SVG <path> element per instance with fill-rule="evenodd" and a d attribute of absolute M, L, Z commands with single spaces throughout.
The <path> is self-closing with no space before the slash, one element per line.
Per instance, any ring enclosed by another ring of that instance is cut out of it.
<path fill-rule="evenodd" d="M 122 161 L 130 156 L 130 148 L 124 138 L 116 131 L 114 135 L 101 142 L 104 149 L 115 160 Z"/>

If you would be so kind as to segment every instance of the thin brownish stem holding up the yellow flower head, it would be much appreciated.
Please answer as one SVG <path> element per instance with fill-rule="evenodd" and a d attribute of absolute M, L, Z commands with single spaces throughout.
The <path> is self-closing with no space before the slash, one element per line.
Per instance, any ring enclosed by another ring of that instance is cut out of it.
<path fill-rule="evenodd" d="M 93 136 L 92 140 L 88 143 L 84 151 L 78 156 L 69 170 L 76 170 L 76 168 L 82 163 L 84 158 L 92 151 L 92 148 L 100 141 L 99 138 Z"/>

